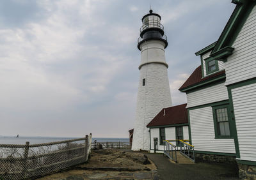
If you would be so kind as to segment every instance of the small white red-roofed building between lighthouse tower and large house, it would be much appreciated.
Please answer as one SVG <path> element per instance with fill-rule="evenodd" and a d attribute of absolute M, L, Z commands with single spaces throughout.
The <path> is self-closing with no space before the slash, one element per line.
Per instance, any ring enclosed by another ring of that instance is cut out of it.
<path fill-rule="evenodd" d="M 163 140 L 189 139 L 186 105 L 164 108 L 147 124 L 150 131 L 150 153 L 163 153 Z M 179 141 L 172 143 L 179 148 Z"/>

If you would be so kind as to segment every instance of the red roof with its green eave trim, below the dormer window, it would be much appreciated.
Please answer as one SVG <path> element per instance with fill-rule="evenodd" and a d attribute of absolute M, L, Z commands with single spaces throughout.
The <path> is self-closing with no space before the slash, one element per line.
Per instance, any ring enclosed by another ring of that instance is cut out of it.
<path fill-rule="evenodd" d="M 204 86 L 206 83 L 210 82 L 211 80 L 217 80 L 217 78 L 224 79 L 225 70 L 219 71 L 218 73 L 214 73 L 212 75 L 202 78 L 201 66 L 198 66 L 198 68 L 196 68 L 195 71 L 193 71 L 193 73 L 189 76 L 186 82 L 182 84 L 179 90 L 182 92 L 185 92 L 195 87 Z"/>

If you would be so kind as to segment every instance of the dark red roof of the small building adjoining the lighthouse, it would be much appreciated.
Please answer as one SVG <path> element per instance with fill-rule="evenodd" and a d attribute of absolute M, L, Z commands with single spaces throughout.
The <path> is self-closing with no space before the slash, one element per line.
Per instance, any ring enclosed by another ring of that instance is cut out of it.
<path fill-rule="evenodd" d="M 147 127 L 188 123 L 188 111 L 186 106 L 187 104 L 182 104 L 162 109 L 157 116 L 147 124 Z"/>

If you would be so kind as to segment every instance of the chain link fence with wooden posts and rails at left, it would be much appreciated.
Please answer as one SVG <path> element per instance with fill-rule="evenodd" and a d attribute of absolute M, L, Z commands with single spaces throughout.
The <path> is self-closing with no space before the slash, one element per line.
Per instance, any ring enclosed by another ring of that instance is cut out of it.
<path fill-rule="evenodd" d="M 0 144 L 0 179 L 26 179 L 88 160 L 92 134 L 43 144 Z"/>

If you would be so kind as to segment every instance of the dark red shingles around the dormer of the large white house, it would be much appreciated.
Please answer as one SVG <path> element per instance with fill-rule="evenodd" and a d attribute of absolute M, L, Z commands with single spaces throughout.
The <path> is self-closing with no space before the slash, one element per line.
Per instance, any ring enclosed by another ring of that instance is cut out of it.
<path fill-rule="evenodd" d="M 184 84 L 180 87 L 179 90 L 181 91 L 182 89 L 184 89 L 186 87 L 199 84 L 200 82 L 204 82 L 204 81 L 209 80 L 209 79 L 213 79 L 214 77 L 216 77 L 218 75 L 222 75 L 222 74 L 225 74 L 225 70 L 220 71 L 218 73 L 214 73 L 213 75 L 209 75 L 209 76 L 204 77 L 202 79 L 202 69 L 201 69 L 201 66 L 198 66 L 198 68 L 196 68 L 196 70 L 193 71 L 193 73 L 186 80 L 186 82 L 184 82 Z"/>

